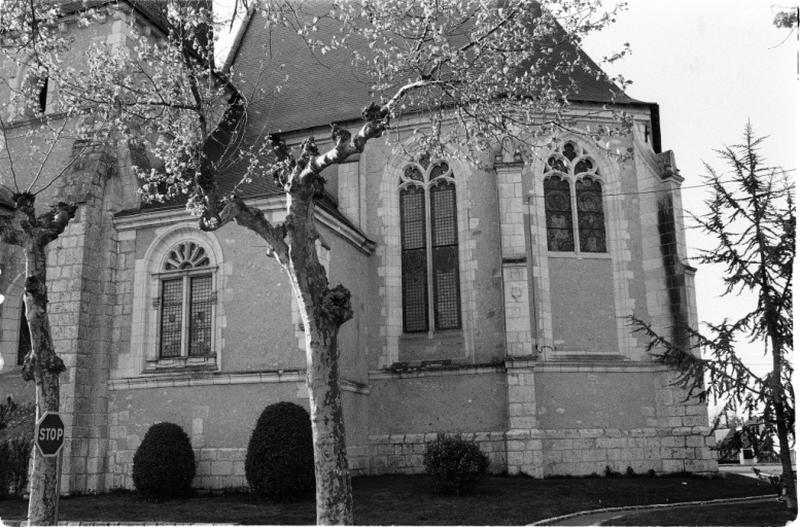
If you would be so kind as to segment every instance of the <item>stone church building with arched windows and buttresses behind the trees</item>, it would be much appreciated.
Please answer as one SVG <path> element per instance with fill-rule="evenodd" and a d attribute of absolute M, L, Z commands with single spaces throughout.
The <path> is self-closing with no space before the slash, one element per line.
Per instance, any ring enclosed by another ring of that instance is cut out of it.
<path fill-rule="evenodd" d="M 124 39 L 131 17 L 158 30 L 146 9 L 111 3 L 95 2 L 89 27 L 65 16 L 77 48 Z M 264 32 L 252 16 L 228 58 L 250 82 Z M 251 126 L 269 122 L 292 144 L 327 136 L 330 122 L 359 125 L 371 99 L 354 73 L 312 68 L 320 57 L 289 36 L 271 45 L 300 82 L 254 108 Z M 632 132 L 616 144 L 630 156 L 565 133 L 533 153 L 504 142 L 475 166 L 409 159 L 378 140 L 326 173 L 324 262 L 353 294 L 340 348 L 354 474 L 419 472 L 438 433 L 475 440 L 495 472 L 716 470 L 706 407 L 670 384 L 626 319 L 663 332 L 696 319 L 682 178 L 662 150 L 658 106 L 593 75 L 577 80 L 578 127 L 613 124 L 606 106 L 628 112 Z M 135 157 L 103 152 L 74 168 L 81 205 L 49 251 L 52 332 L 67 365 L 63 490 L 132 487 L 133 454 L 159 421 L 191 438 L 197 487 L 244 486 L 264 407 L 307 406 L 290 287 L 250 231 L 201 232 L 181 204 L 140 203 Z M 234 178 L 222 175 L 223 187 Z M 254 181 L 242 195 L 279 219 L 273 185 Z M 30 340 L 16 247 L 0 245 L 0 267 L 0 396 L 32 399 L 20 378 Z"/>

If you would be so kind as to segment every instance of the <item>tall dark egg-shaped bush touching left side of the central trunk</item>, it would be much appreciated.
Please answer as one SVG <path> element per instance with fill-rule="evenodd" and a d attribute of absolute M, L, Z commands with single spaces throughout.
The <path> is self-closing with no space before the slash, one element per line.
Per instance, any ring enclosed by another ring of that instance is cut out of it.
<path fill-rule="evenodd" d="M 250 487 L 270 499 L 290 500 L 314 489 L 311 420 L 302 406 L 267 406 L 247 445 L 245 475 Z"/>

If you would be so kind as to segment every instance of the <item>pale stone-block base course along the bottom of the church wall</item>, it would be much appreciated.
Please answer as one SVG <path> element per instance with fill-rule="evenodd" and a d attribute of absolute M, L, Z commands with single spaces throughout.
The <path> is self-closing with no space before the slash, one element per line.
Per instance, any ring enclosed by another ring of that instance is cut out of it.
<path fill-rule="evenodd" d="M 713 437 L 708 427 L 620 429 L 561 429 L 546 431 L 475 432 L 447 434 L 475 441 L 489 457 L 489 472 L 533 477 L 603 475 L 606 467 L 637 474 L 714 472 Z M 419 474 L 424 472 L 425 445 L 437 434 L 372 435 L 369 444 L 349 447 L 353 476 Z M 109 453 L 106 489 L 133 488 L 134 450 Z M 245 488 L 245 448 L 196 448 L 199 489 Z"/>

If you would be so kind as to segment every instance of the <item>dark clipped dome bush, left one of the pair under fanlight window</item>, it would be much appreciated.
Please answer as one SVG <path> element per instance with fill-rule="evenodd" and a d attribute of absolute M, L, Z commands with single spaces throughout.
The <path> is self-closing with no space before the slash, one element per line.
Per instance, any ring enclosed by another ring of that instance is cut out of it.
<path fill-rule="evenodd" d="M 154 499 L 185 495 L 194 479 L 189 437 L 174 423 L 156 423 L 133 455 L 133 484 Z"/>

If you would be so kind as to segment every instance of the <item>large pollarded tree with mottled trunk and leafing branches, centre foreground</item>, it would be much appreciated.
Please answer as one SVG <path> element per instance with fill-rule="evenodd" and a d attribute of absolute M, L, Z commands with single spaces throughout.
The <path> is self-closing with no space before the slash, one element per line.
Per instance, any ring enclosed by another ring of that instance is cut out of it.
<path fill-rule="evenodd" d="M 415 145 L 432 156 L 479 157 L 508 135 L 524 148 L 538 136 L 572 129 L 577 110 L 569 95 L 579 80 L 601 75 L 578 45 L 613 15 L 598 14 L 595 3 L 584 0 L 240 0 L 237 9 L 257 13 L 251 24 L 266 24 L 276 39 L 296 38 L 333 67 L 356 68 L 369 79 L 374 96 L 363 101 L 362 123 L 332 123 L 331 146 L 320 150 L 311 136 L 290 147 L 280 130 L 248 127 L 254 100 L 295 89 L 290 76 L 281 68 L 246 79 L 217 70 L 202 45 L 214 25 L 207 6 L 166 6 L 165 38 L 132 24 L 133 48 L 98 47 L 73 91 L 160 161 L 142 170 L 145 196 L 186 195 L 204 230 L 230 222 L 252 230 L 288 275 L 306 337 L 317 521 L 351 523 L 336 341 L 353 312 L 350 292 L 329 283 L 317 254 L 324 245 L 315 220 L 322 172 L 399 130 L 406 116 L 423 123 L 413 132 Z M 329 66 L 320 61 L 319 67 Z M 607 79 L 603 86 L 621 93 Z M 230 99 L 224 113 L 223 97 Z M 578 131 L 598 140 L 623 132 Z M 285 196 L 282 221 L 270 221 L 245 202 L 238 185 L 220 190 L 216 176 L 231 165 L 241 169 L 240 185 L 257 178 L 278 183 Z"/>

